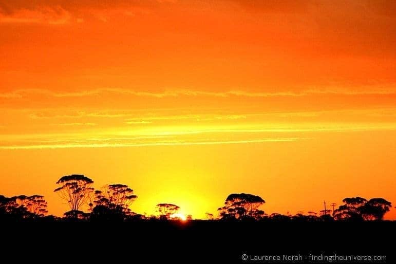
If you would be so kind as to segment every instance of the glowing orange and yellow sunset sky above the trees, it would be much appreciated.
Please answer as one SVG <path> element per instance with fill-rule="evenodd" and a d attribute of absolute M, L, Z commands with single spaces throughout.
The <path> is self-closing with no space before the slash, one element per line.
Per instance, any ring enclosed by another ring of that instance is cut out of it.
<path fill-rule="evenodd" d="M 392 1 L 0 0 L 0 194 L 67 205 L 64 175 L 131 210 L 396 204 Z M 387 219 L 396 219 L 392 209 Z"/>

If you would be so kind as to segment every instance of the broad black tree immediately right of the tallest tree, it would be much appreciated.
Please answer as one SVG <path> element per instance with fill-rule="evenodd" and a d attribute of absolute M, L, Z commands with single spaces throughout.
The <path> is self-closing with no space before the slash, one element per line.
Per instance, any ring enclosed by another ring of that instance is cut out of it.
<path fill-rule="evenodd" d="M 131 215 L 130 204 L 137 198 L 134 190 L 124 184 L 105 185 L 102 191 L 95 191 L 93 218 L 122 220 Z"/>

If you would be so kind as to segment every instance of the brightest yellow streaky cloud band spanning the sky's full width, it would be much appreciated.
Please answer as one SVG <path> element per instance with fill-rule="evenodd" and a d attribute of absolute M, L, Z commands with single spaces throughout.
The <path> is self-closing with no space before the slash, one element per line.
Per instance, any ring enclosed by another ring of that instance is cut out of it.
<path fill-rule="evenodd" d="M 309 139 L 316 133 L 396 130 L 391 124 L 306 124 L 146 127 L 74 134 L 2 135 L 0 149 L 137 147 L 283 142 Z M 274 134 L 275 133 L 275 134 Z M 302 134 L 301 134 L 302 133 Z M 310 133 L 310 134 L 307 134 Z M 274 136 L 276 135 L 276 136 Z M 304 136 L 303 136 L 304 135 Z"/>

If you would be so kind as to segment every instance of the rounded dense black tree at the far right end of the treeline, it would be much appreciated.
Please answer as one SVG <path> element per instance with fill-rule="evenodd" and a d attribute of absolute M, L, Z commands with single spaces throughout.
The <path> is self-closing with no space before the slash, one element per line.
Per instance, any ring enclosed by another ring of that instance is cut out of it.
<path fill-rule="evenodd" d="M 360 206 L 359 210 L 364 220 L 383 220 L 392 204 L 384 198 L 372 198 Z"/>

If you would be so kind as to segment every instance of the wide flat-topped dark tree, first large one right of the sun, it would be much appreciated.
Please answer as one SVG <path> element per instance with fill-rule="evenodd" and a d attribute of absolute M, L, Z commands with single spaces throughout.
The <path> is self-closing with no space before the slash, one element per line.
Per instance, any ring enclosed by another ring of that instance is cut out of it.
<path fill-rule="evenodd" d="M 257 215 L 257 208 L 263 203 L 265 201 L 257 195 L 230 194 L 225 199 L 224 206 L 217 210 L 220 211 L 220 218 L 223 220 L 254 218 Z"/>

